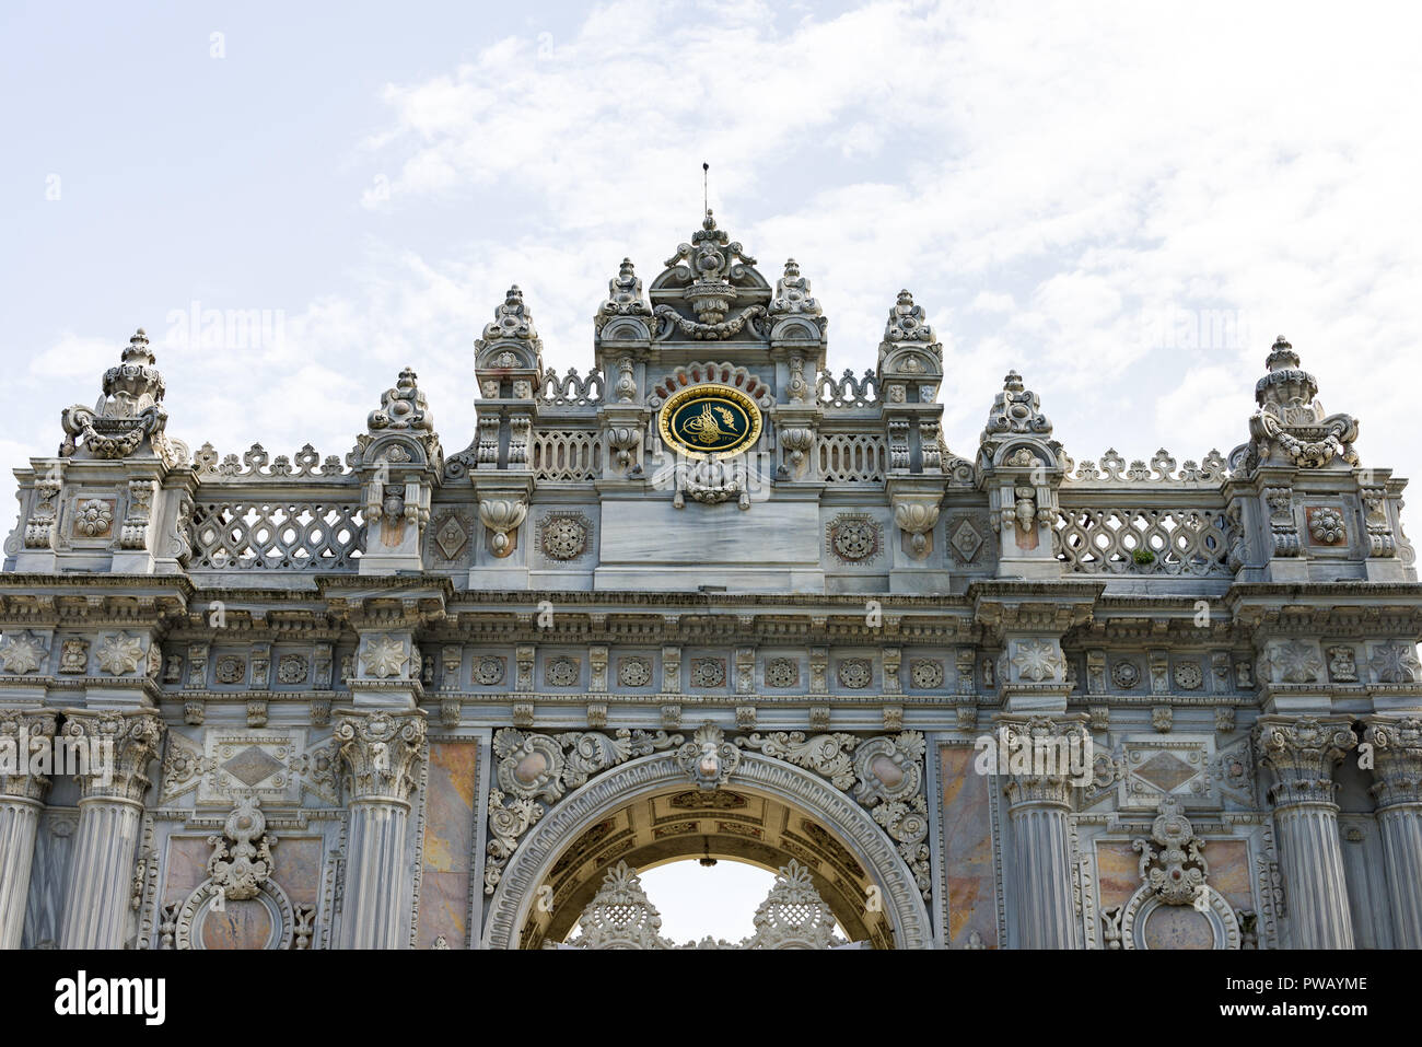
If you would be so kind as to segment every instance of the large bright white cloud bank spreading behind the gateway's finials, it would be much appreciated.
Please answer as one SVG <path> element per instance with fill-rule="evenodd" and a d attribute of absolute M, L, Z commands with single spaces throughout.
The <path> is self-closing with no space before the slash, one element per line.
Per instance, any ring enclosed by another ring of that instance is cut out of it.
<path fill-rule="evenodd" d="M 722 226 L 771 279 L 793 255 L 813 280 L 836 371 L 873 364 L 894 293 L 914 292 L 948 346 L 960 452 L 1010 367 L 1078 457 L 1227 451 L 1284 331 L 1330 410 L 1361 417 L 1365 461 L 1406 467 L 1422 67 L 1389 16 L 801 10 L 776 23 L 759 3 L 710 17 L 626 0 L 390 84 L 388 124 L 361 144 L 361 202 L 459 232 L 438 256 L 374 245 L 348 265 L 340 294 L 289 320 L 283 360 L 259 361 L 273 377 L 256 404 L 219 368 L 176 361 L 171 424 L 201 414 L 229 445 L 297 430 L 348 445 L 408 361 L 462 447 L 471 343 L 503 289 L 525 289 L 550 366 L 587 367 L 607 277 L 629 255 L 650 280 L 687 238 L 705 158 Z M 1224 312 L 1243 323 L 1220 344 L 1163 334 Z M 31 374 L 97 377 L 81 341 L 57 339 L 40 360 L 58 370 Z"/>

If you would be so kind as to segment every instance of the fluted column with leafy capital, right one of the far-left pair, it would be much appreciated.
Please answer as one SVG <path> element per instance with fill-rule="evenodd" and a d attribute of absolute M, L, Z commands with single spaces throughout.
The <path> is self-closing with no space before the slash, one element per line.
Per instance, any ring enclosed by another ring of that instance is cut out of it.
<path fill-rule="evenodd" d="M 65 711 L 65 744 L 82 748 L 80 825 L 70 856 L 60 923 L 61 949 L 121 949 L 128 918 L 148 764 L 158 757 L 164 721 L 148 711 Z"/>

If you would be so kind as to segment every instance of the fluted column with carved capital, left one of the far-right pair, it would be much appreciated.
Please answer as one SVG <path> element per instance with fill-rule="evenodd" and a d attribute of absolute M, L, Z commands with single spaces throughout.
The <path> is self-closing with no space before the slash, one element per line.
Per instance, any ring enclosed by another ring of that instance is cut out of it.
<path fill-rule="evenodd" d="M 1295 949 L 1352 949 L 1332 768 L 1358 743 L 1345 720 L 1263 717 L 1254 744 L 1274 804 Z"/>

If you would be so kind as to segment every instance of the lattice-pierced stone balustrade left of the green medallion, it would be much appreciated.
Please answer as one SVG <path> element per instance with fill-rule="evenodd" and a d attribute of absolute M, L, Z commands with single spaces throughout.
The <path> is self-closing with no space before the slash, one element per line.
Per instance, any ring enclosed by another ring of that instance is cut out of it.
<path fill-rule="evenodd" d="M 199 501 L 189 531 L 188 569 L 351 572 L 365 548 L 356 502 Z"/>

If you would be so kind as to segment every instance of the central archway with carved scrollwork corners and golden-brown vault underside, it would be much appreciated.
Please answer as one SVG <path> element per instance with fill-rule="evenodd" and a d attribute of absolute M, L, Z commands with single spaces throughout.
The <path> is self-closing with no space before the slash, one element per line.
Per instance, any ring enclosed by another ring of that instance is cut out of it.
<path fill-rule="evenodd" d="M 913 731 L 863 744 L 799 733 L 731 743 L 714 724 L 690 741 L 661 731 L 616 740 L 501 731 L 486 943 L 559 940 L 613 858 L 643 866 L 710 854 L 714 841 L 718 854 L 766 868 L 813 862 L 856 939 L 923 947 L 931 940 L 923 753 Z M 627 757 L 640 758 L 621 764 Z M 597 777 L 559 799 L 589 775 Z"/>

